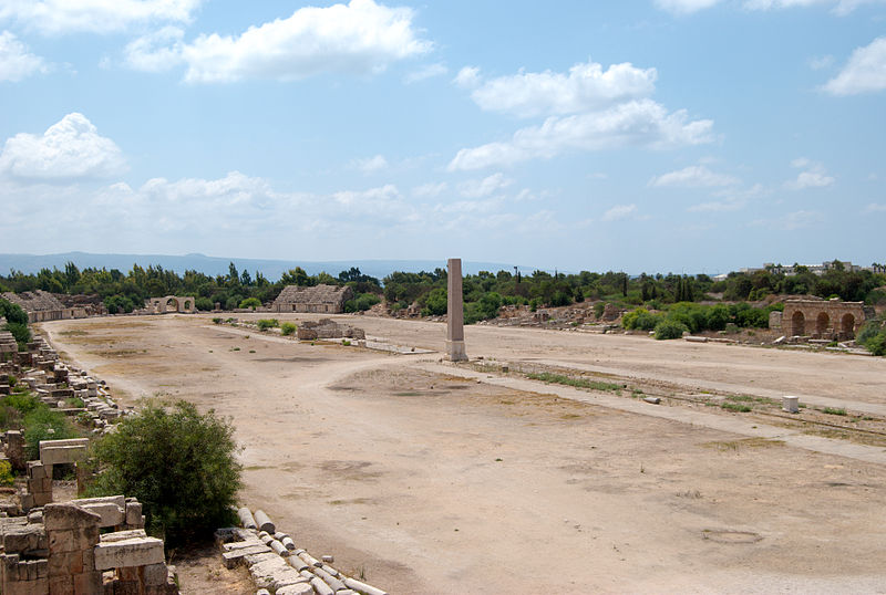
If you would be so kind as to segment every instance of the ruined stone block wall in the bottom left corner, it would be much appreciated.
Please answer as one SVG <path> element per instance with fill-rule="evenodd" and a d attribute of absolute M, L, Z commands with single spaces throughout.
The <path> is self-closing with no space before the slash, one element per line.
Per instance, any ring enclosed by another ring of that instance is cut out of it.
<path fill-rule="evenodd" d="M 142 504 L 123 495 L 47 503 L 0 519 L 0 591 L 20 595 L 178 593 L 163 541 L 144 531 Z M 112 532 L 100 534 L 101 530 Z"/>

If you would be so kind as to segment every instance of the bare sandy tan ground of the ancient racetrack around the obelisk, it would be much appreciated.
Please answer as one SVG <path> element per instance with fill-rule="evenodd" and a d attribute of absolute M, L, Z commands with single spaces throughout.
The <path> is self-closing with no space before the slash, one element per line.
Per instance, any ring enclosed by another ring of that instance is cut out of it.
<path fill-rule="evenodd" d="M 343 320 L 443 348 L 440 324 Z M 886 592 L 882 464 L 577 403 L 540 383 L 477 383 L 437 366 L 437 354 L 247 338 L 200 316 L 43 328 L 125 401 L 181 397 L 231 416 L 243 502 L 391 593 Z M 466 335 L 472 356 L 886 405 L 883 358 L 481 326 Z M 184 591 L 212 592 L 204 575 L 218 578 L 189 571 Z"/>

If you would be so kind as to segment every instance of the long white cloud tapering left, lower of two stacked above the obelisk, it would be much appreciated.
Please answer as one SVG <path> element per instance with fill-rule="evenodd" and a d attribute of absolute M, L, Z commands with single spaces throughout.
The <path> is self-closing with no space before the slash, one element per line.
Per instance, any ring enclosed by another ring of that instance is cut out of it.
<path fill-rule="evenodd" d="M 690 121 L 686 111 L 669 114 L 651 100 L 632 101 L 604 112 L 552 116 L 540 126 L 517 131 L 511 140 L 461 149 L 449 169 L 509 166 L 576 149 L 698 145 L 713 139 L 712 127 L 710 119 Z"/>

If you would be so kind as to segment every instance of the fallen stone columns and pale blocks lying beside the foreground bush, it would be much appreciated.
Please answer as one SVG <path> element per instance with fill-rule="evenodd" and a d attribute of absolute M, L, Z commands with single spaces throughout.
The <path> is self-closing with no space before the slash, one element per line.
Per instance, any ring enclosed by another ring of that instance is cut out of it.
<path fill-rule="evenodd" d="M 225 566 L 247 566 L 259 594 L 269 595 L 272 589 L 276 595 L 388 595 L 336 570 L 332 556 L 317 560 L 298 547 L 264 511 L 254 515 L 244 507 L 237 515 L 243 528 L 219 529 L 216 542 Z"/>

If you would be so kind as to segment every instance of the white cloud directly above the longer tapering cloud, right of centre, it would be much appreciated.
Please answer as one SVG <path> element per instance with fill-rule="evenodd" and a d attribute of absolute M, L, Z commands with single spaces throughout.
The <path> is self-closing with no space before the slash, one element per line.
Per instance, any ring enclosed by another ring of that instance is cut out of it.
<path fill-rule="evenodd" d="M 545 71 L 492 79 L 471 97 L 482 109 L 519 117 L 575 114 L 649 95 L 657 76 L 656 69 L 637 69 L 627 62 L 604 71 L 601 64 L 588 61 L 574 65 L 568 75 Z M 475 83 L 478 74 L 459 73 L 456 81 L 460 79 Z"/>

